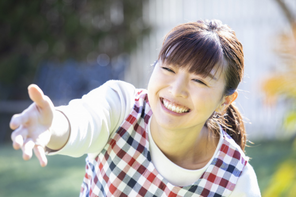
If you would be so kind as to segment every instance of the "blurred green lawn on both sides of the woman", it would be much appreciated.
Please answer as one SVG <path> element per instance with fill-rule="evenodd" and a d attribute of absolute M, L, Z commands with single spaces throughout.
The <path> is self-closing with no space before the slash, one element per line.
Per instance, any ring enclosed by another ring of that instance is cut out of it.
<path fill-rule="evenodd" d="M 296 159 L 291 144 L 292 141 L 269 141 L 246 147 L 261 192 L 281 161 Z M 85 157 L 49 156 L 48 166 L 42 168 L 35 156 L 23 161 L 21 151 L 13 150 L 11 144 L 0 145 L 0 196 L 78 196 Z"/>

